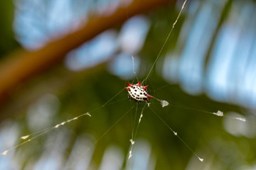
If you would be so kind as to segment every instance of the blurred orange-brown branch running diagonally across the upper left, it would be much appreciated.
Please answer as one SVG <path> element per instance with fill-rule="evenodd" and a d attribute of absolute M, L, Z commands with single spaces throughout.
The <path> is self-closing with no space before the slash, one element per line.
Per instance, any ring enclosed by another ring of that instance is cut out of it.
<path fill-rule="evenodd" d="M 0 67 L 0 103 L 11 94 L 21 82 L 31 79 L 40 72 L 58 64 L 70 51 L 83 42 L 92 39 L 102 31 L 117 26 L 127 18 L 149 11 L 156 6 L 170 3 L 173 0 L 137 0 L 129 6 L 120 7 L 110 16 L 91 18 L 85 26 L 75 33 L 48 43 L 35 52 L 19 52 L 18 55 L 2 62 Z M 127 13 L 129 13 L 127 15 Z"/>

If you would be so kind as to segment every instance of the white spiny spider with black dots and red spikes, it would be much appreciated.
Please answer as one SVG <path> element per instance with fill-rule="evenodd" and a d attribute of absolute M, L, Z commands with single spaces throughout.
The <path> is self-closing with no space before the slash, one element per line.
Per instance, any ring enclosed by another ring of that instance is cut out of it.
<path fill-rule="evenodd" d="M 137 84 L 129 84 L 128 82 L 127 84 L 128 86 L 125 87 L 125 89 L 127 89 L 128 91 L 129 100 L 134 99 L 135 101 L 140 103 L 142 101 L 149 102 L 149 98 L 153 98 L 153 96 L 150 96 L 146 91 L 146 88 L 148 86 L 142 86 L 142 84 L 140 84 L 140 81 Z"/>

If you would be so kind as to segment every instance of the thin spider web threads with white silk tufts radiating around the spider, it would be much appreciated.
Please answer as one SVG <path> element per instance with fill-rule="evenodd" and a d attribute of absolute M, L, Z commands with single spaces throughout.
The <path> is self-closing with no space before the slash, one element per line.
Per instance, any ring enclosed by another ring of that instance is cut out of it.
<path fill-rule="evenodd" d="M 161 50 L 159 51 L 158 55 L 156 56 L 156 60 L 155 60 L 154 63 L 152 64 L 151 69 L 149 70 L 148 74 L 146 75 L 146 78 L 143 79 L 142 84 L 146 83 L 146 81 L 149 79 L 149 77 L 150 77 L 150 75 L 151 75 L 151 72 L 152 72 L 152 69 L 154 69 L 156 62 L 157 62 L 157 60 L 159 59 L 159 57 L 160 57 L 160 55 L 161 55 L 161 51 L 164 49 L 164 47 L 165 47 L 165 45 L 166 45 L 166 42 L 167 42 L 167 40 L 169 39 L 169 36 L 170 36 L 171 33 L 172 33 L 172 30 L 174 29 L 176 23 L 178 22 L 178 18 L 180 17 L 180 15 L 181 15 L 181 13 L 182 13 L 182 11 L 183 11 L 183 8 L 186 6 L 186 3 L 187 3 L 187 1 L 184 1 L 184 2 L 183 2 L 183 6 L 182 6 L 182 8 L 181 8 L 181 11 L 178 13 L 178 17 L 176 18 L 176 21 L 174 21 L 174 24 L 173 24 L 171 30 L 169 31 L 169 35 L 167 35 L 167 38 L 166 38 L 166 40 L 164 41 L 164 45 L 162 45 Z M 135 62 L 133 56 L 132 56 L 132 61 L 133 61 L 133 63 Z M 137 73 L 135 72 L 134 64 L 133 64 L 132 67 L 133 67 L 134 74 L 136 75 Z M 136 76 L 136 78 L 137 78 L 137 81 L 139 81 L 139 78 L 138 78 L 137 76 Z M 121 94 L 123 91 L 124 91 L 124 89 L 120 90 L 116 95 L 114 95 L 112 98 L 110 98 L 109 101 L 107 101 L 105 104 L 103 104 L 103 105 L 100 106 L 100 107 L 103 108 L 103 107 L 105 107 L 105 106 L 108 106 L 108 105 L 110 105 L 110 104 L 113 104 L 113 103 L 110 103 L 110 102 L 113 101 L 113 99 L 114 99 L 116 96 L 118 96 L 119 94 Z M 163 108 L 164 108 L 165 106 L 171 105 L 171 106 L 181 107 L 181 108 L 185 108 L 185 109 L 196 110 L 195 108 L 189 108 L 189 107 L 186 107 L 186 106 L 178 106 L 178 105 L 176 105 L 175 103 L 169 103 L 168 101 L 161 100 L 161 99 L 156 98 L 156 97 L 154 97 L 154 99 L 156 99 L 156 101 L 159 101 L 160 104 L 161 104 L 161 106 L 162 106 Z M 130 146 L 130 149 L 129 149 L 129 154 L 127 155 L 127 159 L 128 159 L 128 160 L 127 160 L 127 162 L 128 162 L 128 163 L 127 163 L 127 166 L 129 166 L 129 159 L 132 158 L 132 149 L 133 149 L 133 146 L 134 146 L 135 143 L 136 143 L 137 132 L 138 132 L 138 130 L 139 130 L 139 125 L 140 125 L 140 123 L 142 122 L 142 118 L 144 118 L 143 115 L 144 115 L 144 113 L 145 113 L 146 108 L 149 108 L 149 111 L 151 111 L 151 113 L 154 113 L 154 114 L 164 123 L 164 125 L 166 125 L 166 127 L 169 128 L 169 130 L 170 130 L 176 137 L 178 137 L 178 139 L 181 140 L 181 142 L 183 142 L 183 144 L 186 145 L 186 147 L 188 147 L 188 149 L 190 149 L 191 152 L 193 152 L 193 154 L 194 154 L 201 162 L 203 162 L 203 158 L 199 157 L 199 156 L 196 154 L 196 152 L 194 152 L 193 149 L 191 149 L 191 147 L 189 147 L 188 144 L 187 144 L 183 139 L 181 139 L 181 137 L 179 137 L 178 132 L 174 131 L 174 130 L 171 128 L 171 126 L 168 125 L 168 123 L 166 123 L 166 121 L 165 121 L 163 118 L 161 118 L 161 116 L 160 116 L 156 111 L 154 111 L 153 108 L 150 107 L 150 103 L 144 103 L 144 104 L 143 104 L 143 107 L 142 107 L 142 109 L 141 109 L 141 111 L 139 111 L 138 104 L 134 104 L 133 106 L 131 106 L 131 108 L 130 108 L 127 112 L 125 112 L 125 113 L 119 118 L 119 120 L 117 120 L 117 121 L 114 123 L 114 125 L 112 125 L 109 129 L 107 129 L 107 130 L 102 134 L 102 136 L 100 136 L 94 143 L 92 143 L 92 145 L 91 145 L 90 147 L 88 147 L 87 150 L 89 150 L 89 149 L 90 149 L 91 147 L 93 147 L 98 141 L 100 141 L 100 140 L 102 139 L 102 137 L 104 137 L 105 135 L 107 135 L 107 132 L 109 132 L 110 130 L 112 130 L 112 128 L 114 128 L 114 126 L 117 125 L 117 123 L 119 123 L 119 121 L 122 120 L 122 118 L 124 118 L 125 115 L 127 115 L 128 113 L 132 112 L 133 109 L 135 109 L 135 111 L 134 111 L 134 112 L 135 112 L 134 122 L 133 122 L 133 125 L 132 125 L 132 128 L 133 128 L 133 130 L 132 130 L 132 138 L 131 138 L 130 141 L 129 141 L 129 142 L 131 143 L 131 146 Z M 211 113 L 211 112 L 208 112 L 208 111 L 201 111 L 201 110 L 196 110 L 196 111 L 203 112 L 203 113 L 209 113 L 209 114 L 212 114 L 212 115 L 217 115 L 217 116 L 219 116 L 219 117 L 225 116 L 222 111 L 217 111 L 216 113 Z M 137 115 L 139 115 L 139 119 L 137 119 Z M 66 124 L 68 124 L 68 123 L 72 123 L 73 121 L 78 120 L 79 118 L 85 117 L 85 116 L 87 116 L 87 118 L 90 118 L 90 117 L 91 117 L 90 112 L 88 112 L 88 113 L 82 113 L 81 115 L 78 115 L 78 116 L 76 116 L 75 118 L 71 118 L 70 120 L 65 120 L 65 121 L 63 121 L 63 122 L 61 122 L 61 123 L 58 123 L 57 125 L 54 125 L 53 127 L 46 128 L 45 130 L 41 130 L 41 131 L 35 132 L 35 133 L 33 133 L 33 134 L 30 134 L 30 135 L 24 135 L 24 136 L 21 137 L 21 139 L 24 140 L 23 142 L 21 142 L 20 144 L 14 146 L 14 147 L 11 147 L 10 149 L 6 149 L 6 150 L 5 150 L 4 152 L 2 152 L 1 154 L 2 154 L 2 155 L 6 155 L 6 154 L 8 154 L 8 152 L 11 151 L 12 149 L 16 149 L 17 147 L 21 147 L 21 145 L 25 145 L 26 143 L 31 142 L 32 140 L 36 140 L 36 138 L 40 137 L 41 135 L 46 134 L 47 132 L 50 132 L 51 130 L 58 129 L 58 128 L 60 128 L 60 127 L 62 127 L 62 126 L 64 126 L 64 125 L 66 125 Z M 92 116 L 93 116 L 93 115 L 92 115 Z M 233 119 L 236 119 L 236 120 L 241 120 L 241 121 L 243 121 L 243 122 L 246 121 L 245 118 L 238 118 L 238 117 L 230 117 L 230 118 L 233 118 Z M 87 151 L 85 151 L 85 152 L 87 152 Z M 72 164 L 70 165 L 70 167 L 71 167 L 71 166 L 72 166 Z"/>

